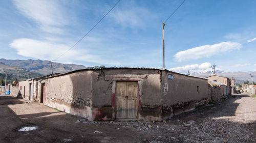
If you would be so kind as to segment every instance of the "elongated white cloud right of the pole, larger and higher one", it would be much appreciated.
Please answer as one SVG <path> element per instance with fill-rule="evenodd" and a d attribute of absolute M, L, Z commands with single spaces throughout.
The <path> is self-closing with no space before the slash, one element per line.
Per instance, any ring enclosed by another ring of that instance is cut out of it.
<path fill-rule="evenodd" d="M 179 51 L 174 55 L 177 61 L 196 60 L 200 58 L 209 58 L 212 55 L 216 55 L 223 52 L 228 52 L 234 49 L 240 49 L 242 45 L 237 42 L 221 42 L 214 45 L 204 45 Z"/>

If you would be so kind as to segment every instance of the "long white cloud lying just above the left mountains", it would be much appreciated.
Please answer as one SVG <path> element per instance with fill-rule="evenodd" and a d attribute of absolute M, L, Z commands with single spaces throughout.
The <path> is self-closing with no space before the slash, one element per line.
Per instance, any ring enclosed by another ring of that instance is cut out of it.
<path fill-rule="evenodd" d="M 17 54 L 19 55 L 42 60 L 53 60 L 70 48 L 69 46 L 63 44 L 25 38 L 14 40 L 10 44 L 10 47 L 16 49 Z M 99 55 L 90 54 L 84 49 L 70 50 L 65 54 L 65 56 L 62 56 L 56 62 L 70 63 L 74 61 L 106 65 L 120 65 L 119 62 L 103 60 Z"/>

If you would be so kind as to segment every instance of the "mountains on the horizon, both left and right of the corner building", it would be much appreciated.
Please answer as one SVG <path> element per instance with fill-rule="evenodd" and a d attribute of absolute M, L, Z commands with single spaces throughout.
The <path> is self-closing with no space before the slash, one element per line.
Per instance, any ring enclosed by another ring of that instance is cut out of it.
<path fill-rule="evenodd" d="M 83 65 L 76 64 L 61 64 L 52 62 L 53 73 L 66 73 L 74 70 L 87 68 Z M 0 70 L 6 70 L 12 78 L 22 78 L 28 77 L 29 71 L 30 78 L 40 77 L 44 75 L 51 74 L 50 61 L 41 60 L 6 60 L 0 59 Z M 2 74 L 1 74 L 2 73 Z M 1 72 L 0 76 L 3 77 L 5 74 Z M 253 81 L 256 81 L 256 71 L 252 72 L 223 72 L 216 71 L 216 75 L 224 76 L 228 78 L 235 78 L 236 83 L 244 83 L 244 81 L 251 81 L 251 75 L 253 76 Z M 212 75 L 212 71 L 204 71 L 201 73 L 194 72 L 190 73 L 190 76 L 205 78 Z M 20 79 L 19 79 L 20 80 Z"/>

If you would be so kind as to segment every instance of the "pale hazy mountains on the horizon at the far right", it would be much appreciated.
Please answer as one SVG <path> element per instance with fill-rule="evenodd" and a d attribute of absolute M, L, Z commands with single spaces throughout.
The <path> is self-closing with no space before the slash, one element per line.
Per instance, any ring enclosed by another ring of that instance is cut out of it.
<path fill-rule="evenodd" d="M 256 81 L 256 71 L 252 72 L 216 72 L 216 75 L 224 76 L 228 78 L 234 78 L 236 83 L 244 83 L 244 81 L 249 80 L 251 82 L 251 75 L 253 76 L 253 82 Z M 205 78 L 212 75 L 212 72 L 201 73 L 201 74 L 190 74 L 191 76 Z"/>

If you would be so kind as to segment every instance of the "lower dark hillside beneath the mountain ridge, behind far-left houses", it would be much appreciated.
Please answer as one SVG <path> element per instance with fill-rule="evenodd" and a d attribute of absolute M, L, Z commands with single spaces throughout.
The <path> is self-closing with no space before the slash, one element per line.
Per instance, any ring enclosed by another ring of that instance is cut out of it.
<path fill-rule="evenodd" d="M 28 79 L 29 76 L 29 70 L 16 66 L 8 66 L 0 62 L 0 84 L 3 84 L 5 80 L 5 72 L 3 70 L 7 72 L 7 83 L 11 83 L 12 81 L 22 81 Z M 38 72 L 30 72 L 30 78 L 40 76 L 44 75 Z"/>

